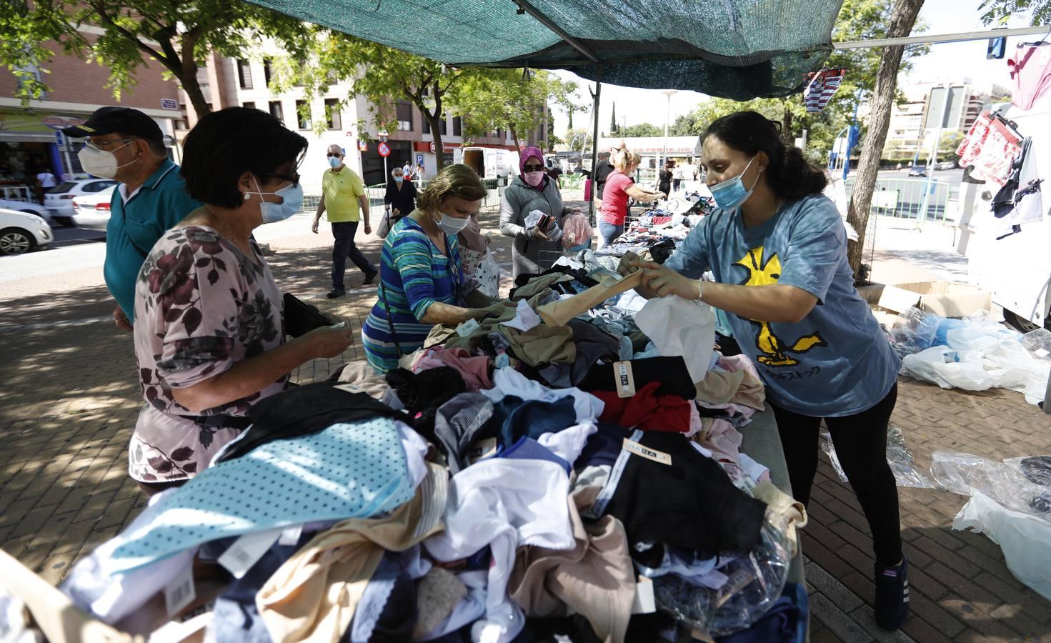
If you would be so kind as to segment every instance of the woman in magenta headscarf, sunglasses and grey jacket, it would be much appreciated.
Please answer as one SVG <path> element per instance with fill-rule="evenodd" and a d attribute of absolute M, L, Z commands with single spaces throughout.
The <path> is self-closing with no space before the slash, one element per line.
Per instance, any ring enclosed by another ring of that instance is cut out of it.
<path fill-rule="evenodd" d="M 555 217 L 561 227 L 562 217 L 573 210 L 562 206 L 558 185 L 547 174 L 543 152 L 539 147 L 522 149 L 518 168 L 521 172 L 503 190 L 500 199 L 500 234 L 514 237 L 511 247 L 513 274 L 534 274 L 550 268 L 540 266 L 541 252 L 561 252 L 562 246 L 535 224 L 526 224 L 530 212 L 539 210 Z M 530 222 L 533 223 L 533 222 Z"/>

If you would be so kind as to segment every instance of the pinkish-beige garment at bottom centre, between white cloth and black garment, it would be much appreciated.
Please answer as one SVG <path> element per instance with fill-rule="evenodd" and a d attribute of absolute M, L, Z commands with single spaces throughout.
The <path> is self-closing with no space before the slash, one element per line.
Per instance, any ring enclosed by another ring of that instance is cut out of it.
<path fill-rule="evenodd" d="M 508 590 L 528 617 L 580 614 L 599 639 L 620 643 L 635 600 L 635 572 L 619 520 L 603 516 L 584 524 L 580 519 L 599 491 L 581 486 L 570 494 L 572 549 L 519 547 Z"/>

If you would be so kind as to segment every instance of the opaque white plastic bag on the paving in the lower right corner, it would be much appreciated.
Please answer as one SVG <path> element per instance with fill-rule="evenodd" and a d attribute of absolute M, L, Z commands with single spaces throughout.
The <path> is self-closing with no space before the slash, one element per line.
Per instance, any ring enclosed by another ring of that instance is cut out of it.
<path fill-rule="evenodd" d="M 1002 506 L 980 491 L 960 510 L 952 528 L 971 528 L 1004 551 L 1007 568 L 1019 581 L 1051 600 L 1051 523 Z"/>

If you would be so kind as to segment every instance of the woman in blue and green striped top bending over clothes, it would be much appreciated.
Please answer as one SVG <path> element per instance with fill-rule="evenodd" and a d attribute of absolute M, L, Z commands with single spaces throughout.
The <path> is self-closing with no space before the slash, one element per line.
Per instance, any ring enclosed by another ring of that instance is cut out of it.
<path fill-rule="evenodd" d="M 396 369 L 400 355 L 423 348 L 434 325 L 456 326 L 489 312 L 469 307 L 492 304 L 477 291 L 465 300 L 456 242 L 486 193 L 473 169 L 450 165 L 420 192 L 417 208 L 391 227 L 384 242 L 379 298 L 362 332 L 369 364 L 378 372 Z"/>

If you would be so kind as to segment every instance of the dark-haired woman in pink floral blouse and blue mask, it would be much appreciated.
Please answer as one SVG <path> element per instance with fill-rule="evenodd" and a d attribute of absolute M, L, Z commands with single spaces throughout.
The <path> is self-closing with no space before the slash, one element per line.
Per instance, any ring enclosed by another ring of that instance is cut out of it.
<path fill-rule="evenodd" d="M 146 405 L 128 472 L 147 494 L 181 484 L 248 426 L 305 361 L 334 357 L 348 328 L 285 341 L 282 295 L 251 236 L 303 202 L 307 140 L 256 109 L 205 116 L 186 137 L 182 175 L 204 207 L 168 230 L 136 286 L 135 345 Z"/>

